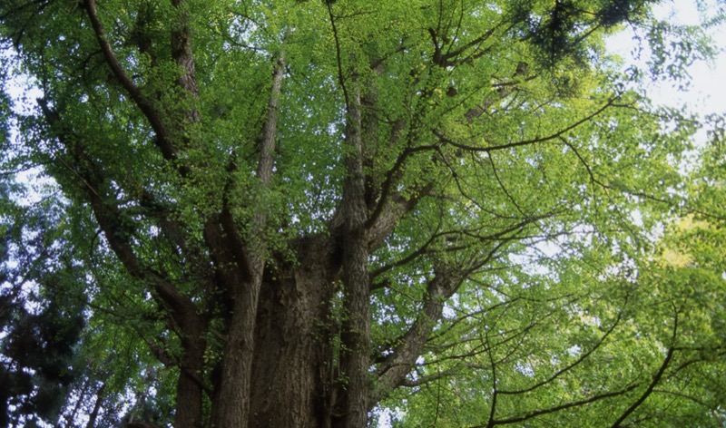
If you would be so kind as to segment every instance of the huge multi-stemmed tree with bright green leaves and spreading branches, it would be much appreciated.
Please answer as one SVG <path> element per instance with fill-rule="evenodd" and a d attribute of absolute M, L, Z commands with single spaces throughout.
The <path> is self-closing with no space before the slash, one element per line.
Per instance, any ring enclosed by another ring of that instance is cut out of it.
<path fill-rule="evenodd" d="M 710 52 L 650 3 L 5 1 L 42 96 L 3 168 L 57 183 L 44 229 L 6 204 L 6 259 L 47 265 L 7 289 L 83 314 L 44 420 L 721 423 L 722 338 L 645 274 L 697 122 L 603 48 Z"/>

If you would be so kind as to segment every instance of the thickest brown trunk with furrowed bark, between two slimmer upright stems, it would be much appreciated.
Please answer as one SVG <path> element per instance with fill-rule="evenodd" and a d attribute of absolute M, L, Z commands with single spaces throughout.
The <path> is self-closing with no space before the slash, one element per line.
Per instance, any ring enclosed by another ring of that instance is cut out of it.
<path fill-rule="evenodd" d="M 327 268 L 306 263 L 266 278 L 252 366 L 250 427 L 329 424 L 331 379 Z"/>

